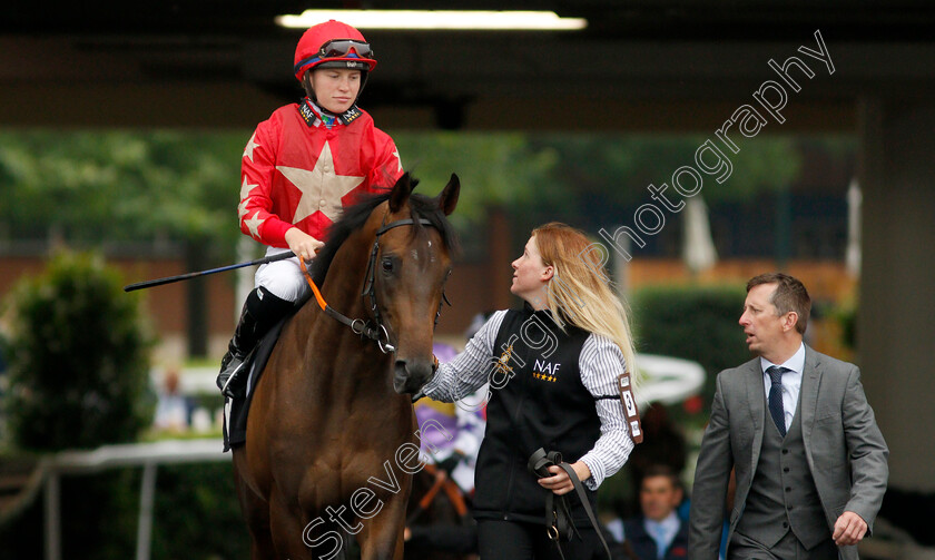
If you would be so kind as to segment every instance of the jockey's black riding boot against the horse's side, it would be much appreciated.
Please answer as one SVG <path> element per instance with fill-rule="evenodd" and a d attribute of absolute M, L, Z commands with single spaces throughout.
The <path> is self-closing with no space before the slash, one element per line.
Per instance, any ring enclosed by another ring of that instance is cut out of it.
<path fill-rule="evenodd" d="M 227 354 L 220 361 L 217 386 L 223 394 L 232 399 L 243 396 L 243 389 L 247 382 L 246 373 L 240 372 L 244 361 L 263 335 L 278 323 L 293 305 L 292 302 L 273 295 L 265 287 L 250 292 L 244 303 L 234 337 L 227 345 Z"/>

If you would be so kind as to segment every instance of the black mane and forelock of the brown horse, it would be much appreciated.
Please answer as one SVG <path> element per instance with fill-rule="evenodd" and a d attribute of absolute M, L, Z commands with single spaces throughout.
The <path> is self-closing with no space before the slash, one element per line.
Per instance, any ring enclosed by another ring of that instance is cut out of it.
<path fill-rule="evenodd" d="M 403 175 L 400 181 L 409 181 L 413 189 L 419 185 L 419 179 L 411 177 L 410 174 Z M 324 283 L 334 256 L 337 254 L 337 249 L 341 248 L 341 245 L 347 240 L 351 234 L 366 224 L 377 206 L 390 199 L 390 194 L 391 190 L 387 190 L 385 194 L 364 197 L 357 204 L 345 208 L 341 219 L 332 224 L 328 228 L 327 243 L 318 250 L 313 261 L 312 278 L 315 281 L 315 284 L 322 285 Z M 413 193 L 410 195 L 409 206 L 412 218 L 416 220 L 413 227 L 413 235 L 417 235 L 417 232 L 423 228 L 417 220 L 424 218 L 431 222 L 432 226 L 442 235 L 442 243 L 449 252 L 457 249 L 457 236 L 454 233 L 454 228 L 441 208 L 439 208 L 439 202 L 435 198 Z"/>

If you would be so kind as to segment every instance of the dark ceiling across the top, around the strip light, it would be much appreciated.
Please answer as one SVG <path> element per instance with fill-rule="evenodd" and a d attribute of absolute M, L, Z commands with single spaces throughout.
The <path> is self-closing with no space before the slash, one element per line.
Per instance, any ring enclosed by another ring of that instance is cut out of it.
<path fill-rule="evenodd" d="M 299 96 L 305 2 L 24 3 L 0 20 L 0 126 L 250 127 Z M 384 128 L 717 127 L 800 46 L 834 61 L 790 96 L 788 128 L 849 129 L 862 92 L 931 95 L 923 1 L 319 2 L 316 8 L 552 9 L 579 32 L 365 31 L 380 66 L 362 106 Z M 801 56 L 801 55 L 798 55 Z M 795 118 L 791 118 L 791 116 Z"/>

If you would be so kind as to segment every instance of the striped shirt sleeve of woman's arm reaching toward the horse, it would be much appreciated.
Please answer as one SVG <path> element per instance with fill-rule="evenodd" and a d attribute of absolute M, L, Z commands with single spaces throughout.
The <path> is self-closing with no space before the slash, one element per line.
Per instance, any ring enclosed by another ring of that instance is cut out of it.
<path fill-rule="evenodd" d="M 488 382 L 491 358 L 494 355 L 493 344 L 505 315 L 505 311 L 494 313 L 468 341 L 464 352 L 451 362 L 439 364 L 435 376 L 422 389 L 425 396 L 452 403 L 464 399 Z"/>

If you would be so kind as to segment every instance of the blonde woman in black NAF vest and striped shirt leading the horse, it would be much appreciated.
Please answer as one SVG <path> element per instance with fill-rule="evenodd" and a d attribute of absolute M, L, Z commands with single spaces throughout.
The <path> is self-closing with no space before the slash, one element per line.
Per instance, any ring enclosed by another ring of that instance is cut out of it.
<path fill-rule="evenodd" d="M 494 313 L 423 389 L 452 402 L 491 384 L 473 504 L 484 560 L 560 558 L 547 536 L 547 498 L 574 487 L 559 466 L 530 473 L 533 451 L 560 452 L 597 511 L 598 487 L 633 449 L 617 384 L 634 371 L 627 313 L 590 247 L 564 224 L 534 229 L 512 264 L 510 292 L 524 307 Z M 602 556 L 584 507 L 569 504 L 581 539 L 561 541 L 564 558 Z"/>

